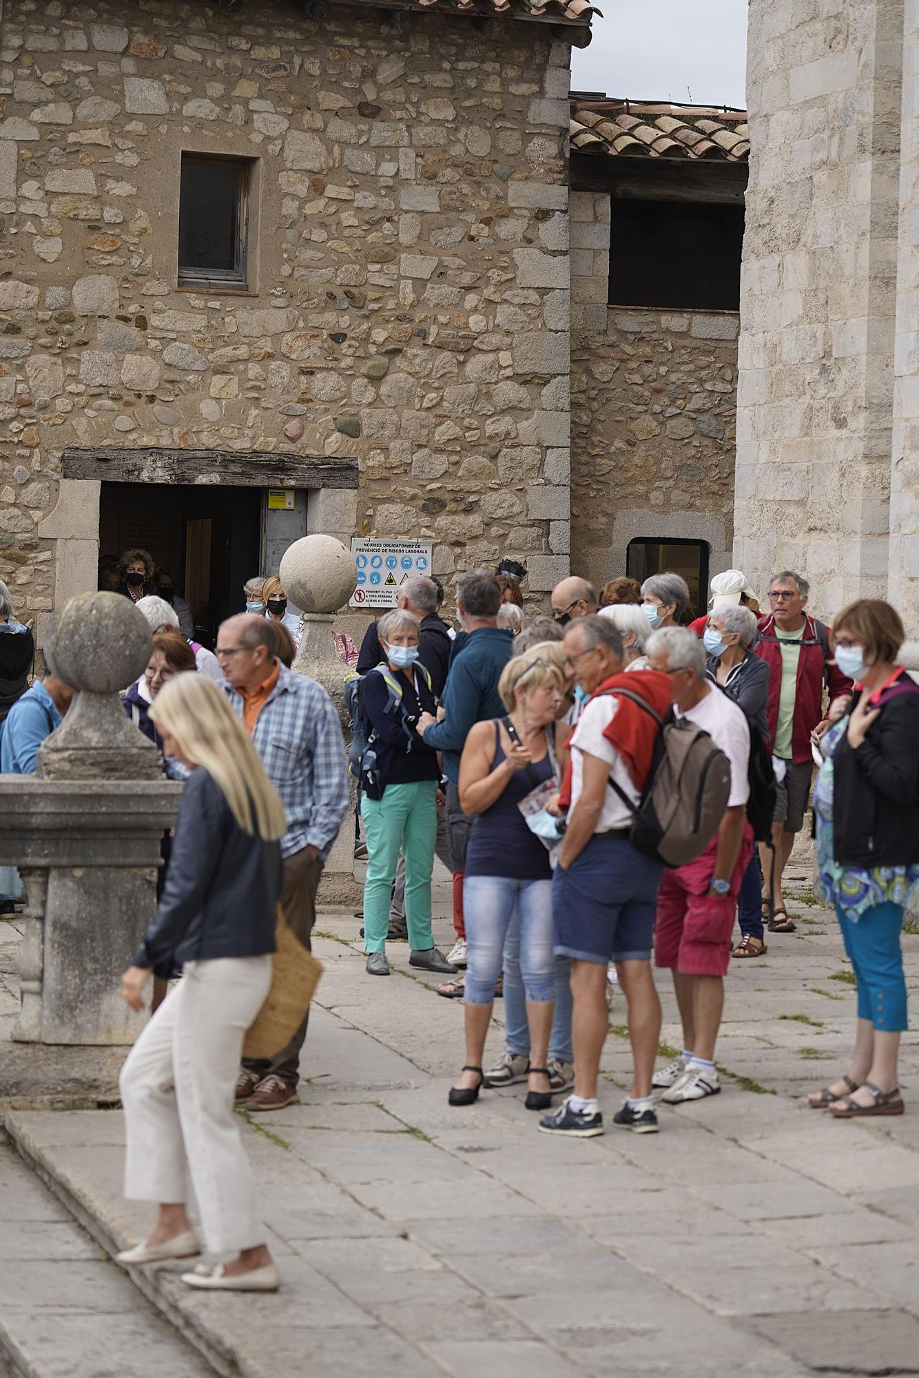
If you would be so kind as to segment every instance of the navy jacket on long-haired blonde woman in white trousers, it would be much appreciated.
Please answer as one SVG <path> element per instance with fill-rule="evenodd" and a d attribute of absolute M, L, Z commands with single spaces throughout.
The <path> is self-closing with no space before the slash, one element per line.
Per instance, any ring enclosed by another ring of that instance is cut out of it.
<path fill-rule="evenodd" d="M 281 883 L 280 842 L 244 832 L 198 766 L 182 794 L 163 898 L 134 965 L 274 952 Z"/>

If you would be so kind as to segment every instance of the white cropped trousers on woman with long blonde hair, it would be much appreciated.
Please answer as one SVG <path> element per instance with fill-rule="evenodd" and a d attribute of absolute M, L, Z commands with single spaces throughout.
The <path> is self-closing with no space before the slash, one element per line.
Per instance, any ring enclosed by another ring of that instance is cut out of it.
<path fill-rule="evenodd" d="M 265 1243 L 233 1094 L 245 1031 L 270 984 L 270 956 L 187 962 L 118 1079 L 124 1195 L 186 1202 L 190 1178 L 204 1244 L 215 1254 Z"/>

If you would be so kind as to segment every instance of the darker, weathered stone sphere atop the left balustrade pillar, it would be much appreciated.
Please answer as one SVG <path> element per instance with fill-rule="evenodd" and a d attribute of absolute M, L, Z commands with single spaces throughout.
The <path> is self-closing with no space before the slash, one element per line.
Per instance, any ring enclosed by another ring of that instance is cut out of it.
<path fill-rule="evenodd" d="M 117 693 L 142 674 L 152 639 L 124 594 L 77 594 L 63 605 L 45 659 L 72 689 Z"/>

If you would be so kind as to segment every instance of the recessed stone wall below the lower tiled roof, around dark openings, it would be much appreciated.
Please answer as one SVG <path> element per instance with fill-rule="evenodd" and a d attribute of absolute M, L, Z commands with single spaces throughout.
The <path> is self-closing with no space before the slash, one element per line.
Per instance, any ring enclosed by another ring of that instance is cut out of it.
<path fill-rule="evenodd" d="M 572 193 L 572 573 L 626 573 L 635 537 L 730 562 L 739 317 L 608 307 L 609 196 Z"/>

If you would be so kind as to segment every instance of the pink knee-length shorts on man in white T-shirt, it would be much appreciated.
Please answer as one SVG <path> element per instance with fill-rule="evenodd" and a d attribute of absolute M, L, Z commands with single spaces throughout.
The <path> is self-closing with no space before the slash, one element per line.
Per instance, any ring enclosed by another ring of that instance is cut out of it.
<path fill-rule="evenodd" d="M 730 893 L 723 898 L 708 893 L 716 836 L 694 861 L 664 871 L 654 916 L 654 966 L 677 967 L 683 976 L 726 976 L 737 893 L 752 849 L 754 830 L 747 824 Z"/>

